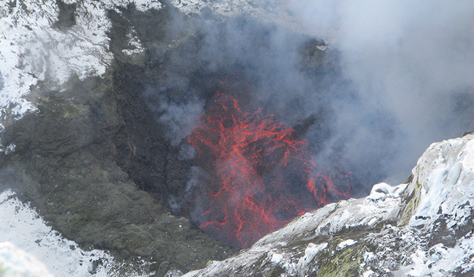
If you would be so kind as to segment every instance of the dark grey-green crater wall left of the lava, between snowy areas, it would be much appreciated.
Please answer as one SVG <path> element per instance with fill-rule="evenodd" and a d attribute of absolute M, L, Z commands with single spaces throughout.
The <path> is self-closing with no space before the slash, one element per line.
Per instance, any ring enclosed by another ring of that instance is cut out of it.
<path fill-rule="evenodd" d="M 16 148 L 0 156 L 0 180 L 67 239 L 110 250 L 119 260 L 153 261 L 163 276 L 173 268 L 204 267 L 235 250 L 163 205 L 185 186 L 190 162 L 177 158 L 144 102 L 159 63 L 147 67 L 146 60 L 121 54 L 119 38 L 130 28 L 122 16 L 145 20 L 137 28 L 143 36 L 153 26 L 160 37 L 167 10 L 137 13 L 133 7 L 124 15 L 110 13 L 116 59 L 104 77 L 71 79 L 61 92 L 38 86 L 38 111 L 10 122 L 1 134 Z"/>

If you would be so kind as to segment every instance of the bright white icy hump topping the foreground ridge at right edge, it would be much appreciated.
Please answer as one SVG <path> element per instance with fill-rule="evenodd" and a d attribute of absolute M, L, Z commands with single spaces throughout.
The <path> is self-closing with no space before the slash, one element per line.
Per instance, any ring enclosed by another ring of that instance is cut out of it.
<path fill-rule="evenodd" d="M 456 214 L 461 205 L 473 205 L 474 142 L 473 135 L 431 144 L 413 169 L 413 182 L 420 184 L 418 209 L 410 224 L 430 223 L 438 211 Z M 421 219 L 420 219 L 421 218 Z"/>

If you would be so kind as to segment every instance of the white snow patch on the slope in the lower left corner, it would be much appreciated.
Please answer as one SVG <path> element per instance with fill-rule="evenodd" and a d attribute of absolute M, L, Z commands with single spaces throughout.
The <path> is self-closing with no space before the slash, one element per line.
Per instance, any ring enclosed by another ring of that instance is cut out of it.
<path fill-rule="evenodd" d="M 0 234 L 0 275 L 3 266 L 7 267 L 7 272 L 38 270 L 49 271 L 54 276 L 120 276 L 119 269 L 127 266 L 117 263 L 105 251 L 82 250 L 74 241 L 64 239 L 59 232 L 48 227 L 29 205 L 18 200 L 11 190 L 0 193 Z M 46 269 L 43 270 L 36 260 L 43 263 Z M 133 270 L 127 274 L 150 275 Z"/>

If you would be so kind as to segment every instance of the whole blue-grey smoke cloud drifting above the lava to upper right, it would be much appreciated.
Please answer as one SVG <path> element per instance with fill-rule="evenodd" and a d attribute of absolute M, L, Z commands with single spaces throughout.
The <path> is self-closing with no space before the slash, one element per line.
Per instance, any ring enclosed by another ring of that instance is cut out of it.
<path fill-rule="evenodd" d="M 197 20 L 174 15 L 167 36 L 178 58 L 167 60 L 162 82 L 181 80 L 194 96 L 157 109 L 171 144 L 190 134 L 223 80 L 248 110 L 304 136 L 316 168 L 353 172 L 367 193 L 404 181 L 431 142 L 472 128 L 473 2 L 291 0 L 286 8 L 296 23 L 212 8 Z"/>

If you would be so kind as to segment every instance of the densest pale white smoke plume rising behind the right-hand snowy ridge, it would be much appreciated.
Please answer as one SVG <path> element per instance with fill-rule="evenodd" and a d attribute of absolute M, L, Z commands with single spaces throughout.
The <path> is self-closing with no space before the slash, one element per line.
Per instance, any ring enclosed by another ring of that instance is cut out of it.
<path fill-rule="evenodd" d="M 332 40 L 357 99 L 331 101 L 336 135 L 326 156 L 350 133 L 343 160 L 365 167 L 376 157 L 385 178 L 401 181 L 431 142 L 472 125 L 466 105 L 474 97 L 472 1 L 290 1 L 289 7 L 306 31 Z"/>

